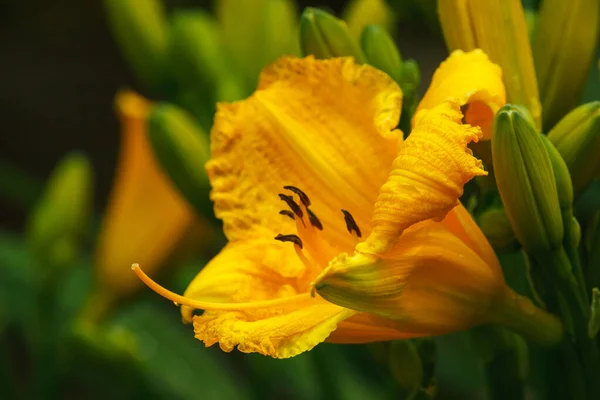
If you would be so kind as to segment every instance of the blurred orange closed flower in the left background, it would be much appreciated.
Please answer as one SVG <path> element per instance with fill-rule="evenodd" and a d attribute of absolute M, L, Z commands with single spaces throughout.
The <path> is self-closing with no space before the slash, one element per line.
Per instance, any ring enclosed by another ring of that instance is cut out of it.
<path fill-rule="evenodd" d="M 117 175 L 98 239 L 95 264 L 100 284 L 127 295 L 141 286 L 129 266 L 152 273 L 192 226 L 194 214 L 153 158 L 146 137 L 149 102 L 133 92 L 117 95 L 122 126 Z"/>

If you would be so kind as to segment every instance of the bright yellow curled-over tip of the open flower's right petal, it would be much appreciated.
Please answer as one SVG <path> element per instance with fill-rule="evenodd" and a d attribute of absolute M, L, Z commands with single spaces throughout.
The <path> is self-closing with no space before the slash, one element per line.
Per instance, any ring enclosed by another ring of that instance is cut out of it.
<path fill-rule="evenodd" d="M 480 126 L 483 140 L 489 140 L 494 115 L 506 103 L 500 67 L 481 50 L 454 51 L 433 74 L 417 111 L 431 109 L 446 100 L 468 105 L 466 123 Z"/>

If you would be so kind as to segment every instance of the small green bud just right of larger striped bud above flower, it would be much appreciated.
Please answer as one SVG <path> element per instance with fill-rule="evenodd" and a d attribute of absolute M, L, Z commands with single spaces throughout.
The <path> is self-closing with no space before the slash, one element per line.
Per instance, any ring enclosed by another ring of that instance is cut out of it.
<path fill-rule="evenodd" d="M 402 57 L 392 37 L 379 25 L 367 25 L 361 47 L 369 64 L 388 74 L 396 82 L 402 79 Z"/>

